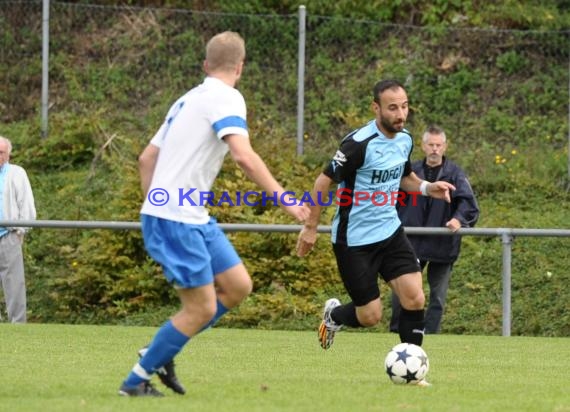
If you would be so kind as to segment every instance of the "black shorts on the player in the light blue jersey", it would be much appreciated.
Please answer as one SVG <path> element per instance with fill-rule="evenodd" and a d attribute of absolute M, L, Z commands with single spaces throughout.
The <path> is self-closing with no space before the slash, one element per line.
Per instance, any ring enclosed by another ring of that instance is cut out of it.
<path fill-rule="evenodd" d="M 333 244 L 333 250 L 344 287 L 356 306 L 380 297 L 379 275 L 389 282 L 421 271 L 403 227 L 381 242 L 364 246 Z"/>

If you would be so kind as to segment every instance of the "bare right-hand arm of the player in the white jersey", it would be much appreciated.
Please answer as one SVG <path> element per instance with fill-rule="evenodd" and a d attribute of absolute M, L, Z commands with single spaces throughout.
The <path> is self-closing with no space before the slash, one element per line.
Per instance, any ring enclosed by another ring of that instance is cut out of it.
<path fill-rule="evenodd" d="M 281 199 L 285 189 L 275 180 L 263 159 L 253 150 L 249 139 L 241 135 L 228 135 L 224 137 L 224 141 L 230 148 L 232 158 L 247 177 L 267 193 L 277 193 L 277 197 Z M 298 205 L 292 197 L 287 199 L 286 196 L 285 200 L 287 204 L 279 204 L 281 209 L 299 222 L 304 222 L 309 216 L 309 208 L 306 205 Z"/>

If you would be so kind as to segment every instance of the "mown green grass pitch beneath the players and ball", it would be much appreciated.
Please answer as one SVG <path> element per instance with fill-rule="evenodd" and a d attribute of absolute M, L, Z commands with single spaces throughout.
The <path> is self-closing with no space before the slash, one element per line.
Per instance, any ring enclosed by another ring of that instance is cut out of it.
<path fill-rule="evenodd" d="M 428 336 L 429 388 L 392 384 L 394 334 L 215 328 L 177 358 L 188 393 L 117 389 L 155 328 L 0 324 L 0 411 L 570 411 L 570 339 Z"/>

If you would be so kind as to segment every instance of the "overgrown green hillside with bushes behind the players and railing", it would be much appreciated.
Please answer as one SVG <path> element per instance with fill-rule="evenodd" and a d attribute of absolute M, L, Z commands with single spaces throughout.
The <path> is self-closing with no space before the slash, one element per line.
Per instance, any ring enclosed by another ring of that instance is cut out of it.
<path fill-rule="evenodd" d="M 205 41 L 231 29 L 247 42 L 240 90 L 253 144 L 289 189 L 311 188 L 340 139 L 372 117 L 373 84 L 396 77 L 416 143 L 430 123 L 447 130 L 448 155 L 480 202 L 479 227 L 569 227 L 567 2 L 304 3 L 303 156 L 294 139 L 299 2 L 274 3 L 52 2 L 42 139 L 41 2 L 0 1 L 0 134 L 30 175 L 38 218 L 137 221 L 136 156 L 170 103 L 201 81 Z M 214 190 L 250 189 L 228 160 Z M 227 223 L 293 223 L 274 207 L 211 212 Z M 310 259 L 294 256 L 293 234 L 231 237 L 255 293 L 224 325 L 312 328 L 324 298 L 344 297 L 327 236 Z M 513 334 L 570 335 L 569 246 L 515 239 Z M 31 321 L 154 324 L 176 305 L 135 231 L 33 230 L 26 265 Z M 501 310 L 500 240 L 466 237 L 444 332 L 499 334 Z"/>

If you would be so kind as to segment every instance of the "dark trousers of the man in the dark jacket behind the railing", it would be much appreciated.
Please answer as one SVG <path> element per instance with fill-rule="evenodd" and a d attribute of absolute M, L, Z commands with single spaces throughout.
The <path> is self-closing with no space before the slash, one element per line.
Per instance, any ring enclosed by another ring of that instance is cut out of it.
<path fill-rule="evenodd" d="M 449 279 L 453 262 L 438 263 L 420 261 L 422 270 L 427 266 L 427 278 L 429 284 L 429 303 L 425 316 L 425 333 L 439 333 L 441 330 L 441 318 L 445 309 L 445 299 L 449 288 Z M 390 319 L 390 331 L 398 332 L 400 322 L 400 300 L 392 292 L 392 318 Z"/>

